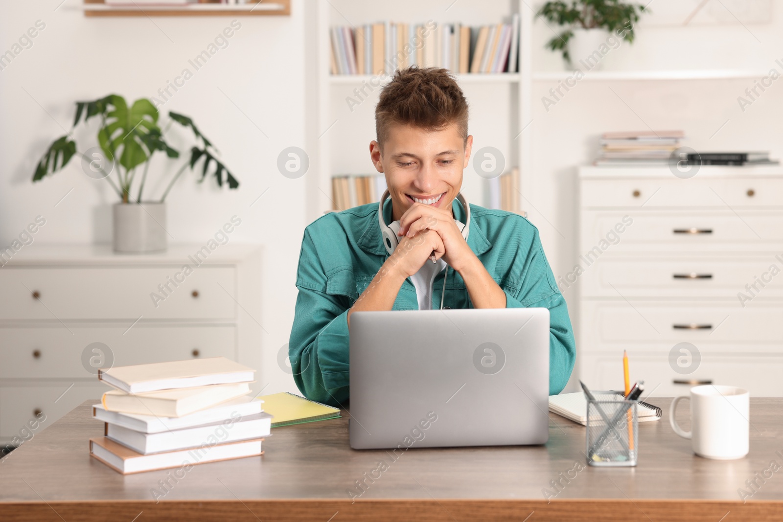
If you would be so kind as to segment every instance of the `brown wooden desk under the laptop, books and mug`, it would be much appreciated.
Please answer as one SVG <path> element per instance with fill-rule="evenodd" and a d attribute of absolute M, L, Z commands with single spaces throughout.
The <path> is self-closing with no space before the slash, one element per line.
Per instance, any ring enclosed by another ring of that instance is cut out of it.
<path fill-rule="evenodd" d="M 0 520 L 783 518 L 783 467 L 766 483 L 758 481 L 760 488 L 745 504 L 738 495 L 771 461 L 783 466 L 783 399 L 751 399 L 750 454 L 735 461 L 693 455 L 691 442 L 669 427 L 670 400 L 650 401 L 662 406 L 664 419 L 640 424 L 635 468 L 585 466 L 585 428 L 554 414 L 546 446 L 414 446 L 395 460 L 391 452 L 349 448 L 344 412 L 342 419 L 273 429 L 262 457 L 193 466 L 171 481 L 171 491 L 157 504 L 151 490 L 170 472 L 122 476 L 89 457 L 88 438 L 102 435 L 103 424 L 90 416 L 96 401 L 87 401 L 0 461 Z M 678 413 L 686 416 L 686 408 Z M 388 469 L 366 481 L 369 488 L 352 503 L 348 488 L 377 470 L 381 460 Z M 550 481 L 567 476 L 576 463 L 583 469 L 561 481 L 562 490 L 547 502 L 543 488 L 551 489 Z"/>

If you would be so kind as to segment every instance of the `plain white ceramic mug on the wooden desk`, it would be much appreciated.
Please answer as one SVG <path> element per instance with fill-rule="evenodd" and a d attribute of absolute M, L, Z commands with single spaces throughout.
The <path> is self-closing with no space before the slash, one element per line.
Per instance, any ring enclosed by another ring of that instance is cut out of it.
<path fill-rule="evenodd" d="M 677 403 L 691 400 L 691 431 L 684 431 L 674 419 Z M 750 394 L 734 386 L 705 384 L 691 388 L 691 394 L 672 401 L 669 423 L 674 433 L 691 439 L 696 455 L 706 459 L 740 459 L 748 454 L 750 436 Z"/>

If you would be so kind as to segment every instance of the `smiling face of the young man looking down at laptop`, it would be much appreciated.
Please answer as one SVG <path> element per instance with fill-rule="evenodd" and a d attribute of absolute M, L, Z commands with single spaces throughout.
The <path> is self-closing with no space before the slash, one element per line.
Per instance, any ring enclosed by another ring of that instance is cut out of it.
<path fill-rule="evenodd" d="M 370 158 L 384 173 L 391 194 L 392 221 L 413 203 L 450 209 L 460 193 L 472 145 L 473 136 L 463 139 L 455 124 L 438 131 L 394 124 L 382 151 L 378 142 L 371 142 Z"/>

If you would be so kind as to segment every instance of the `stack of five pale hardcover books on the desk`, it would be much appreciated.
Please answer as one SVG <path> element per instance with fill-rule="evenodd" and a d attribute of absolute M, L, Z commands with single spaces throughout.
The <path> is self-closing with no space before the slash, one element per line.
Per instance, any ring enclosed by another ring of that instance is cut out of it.
<path fill-rule="evenodd" d="M 105 427 L 90 455 L 120 473 L 263 454 L 272 416 L 248 395 L 254 369 L 216 357 L 121 366 L 98 378 L 116 389 L 92 407 Z"/>

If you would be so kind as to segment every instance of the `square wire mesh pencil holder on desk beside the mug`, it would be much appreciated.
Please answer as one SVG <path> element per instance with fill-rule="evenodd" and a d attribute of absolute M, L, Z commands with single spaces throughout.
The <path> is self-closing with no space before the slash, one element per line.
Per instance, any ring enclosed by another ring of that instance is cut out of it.
<path fill-rule="evenodd" d="M 629 401 L 615 391 L 593 391 L 587 399 L 585 433 L 590 466 L 636 466 L 639 401 Z"/>

